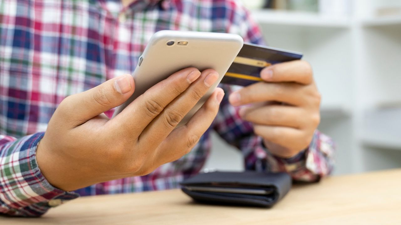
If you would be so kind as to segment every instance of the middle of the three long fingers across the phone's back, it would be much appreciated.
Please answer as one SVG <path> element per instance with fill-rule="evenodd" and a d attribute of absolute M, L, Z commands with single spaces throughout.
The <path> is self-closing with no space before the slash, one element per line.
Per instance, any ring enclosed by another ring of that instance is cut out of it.
<path fill-rule="evenodd" d="M 192 83 L 180 96 L 172 100 L 160 115 L 144 129 L 140 135 L 140 141 L 157 145 L 162 142 L 218 78 L 219 75 L 215 70 L 203 71 L 198 80 Z"/>

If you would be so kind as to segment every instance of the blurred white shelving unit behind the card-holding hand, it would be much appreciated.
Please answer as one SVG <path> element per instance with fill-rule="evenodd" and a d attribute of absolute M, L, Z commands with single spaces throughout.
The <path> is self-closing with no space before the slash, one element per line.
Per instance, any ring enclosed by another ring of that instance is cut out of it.
<path fill-rule="evenodd" d="M 356 10 L 348 17 L 253 12 L 270 46 L 303 52 L 312 64 L 322 93 L 319 129 L 337 144 L 336 174 L 401 166 L 401 151 L 391 162 L 383 151 L 401 149 L 401 124 L 397 133 L 385 126 L 380 130 L 380 118 L 375 128 L 365 123 L 367 110 L 386 101 L 401 102 L 401 16 L 375 18 L 358 11 L 369 1 L 352 4 Z M 371 4 L 377 5 L 375 0 Z"/>

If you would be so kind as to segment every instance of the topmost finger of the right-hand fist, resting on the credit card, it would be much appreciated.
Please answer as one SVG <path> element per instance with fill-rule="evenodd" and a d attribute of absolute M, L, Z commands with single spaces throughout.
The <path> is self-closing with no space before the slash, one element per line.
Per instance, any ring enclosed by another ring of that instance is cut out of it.
<path fill-rule="evenodd" d="M 260 76 L 267 82 L 311 84 L 313 81 L 312 67 L 304 60 L 294 60 L 268 66 L 260 72 Z"/>

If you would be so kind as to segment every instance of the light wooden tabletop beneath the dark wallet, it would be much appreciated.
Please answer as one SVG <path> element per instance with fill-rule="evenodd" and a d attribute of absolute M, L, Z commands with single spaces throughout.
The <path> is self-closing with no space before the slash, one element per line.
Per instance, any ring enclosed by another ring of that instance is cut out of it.
<path fill-rule="evenodd" d="M 271 209 L 199 205 L 170 190 L 81 197 L 41 218 L 0 224 L 401 224 L 401 169 L 295 185 Z"/>

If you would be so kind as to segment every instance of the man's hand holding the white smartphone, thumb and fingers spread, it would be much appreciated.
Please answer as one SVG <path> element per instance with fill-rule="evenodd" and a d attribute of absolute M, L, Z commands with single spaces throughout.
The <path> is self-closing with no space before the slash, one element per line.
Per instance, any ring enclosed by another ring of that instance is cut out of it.
<path fill-rule="evenodd" d="M 53 186 L 71 191 L 146 175 L 188 153 L 211 125 L 224 92 L 217 88 L 186 125 L 176 125 L 217 80 L 215 70 L 178 71 L 136 98 L 119 115 L 103 112 L 125 102 L 134 79 L 119 76 L 65 98 L 38 145 L 36 159 Z"/>

